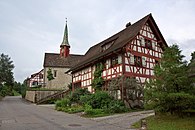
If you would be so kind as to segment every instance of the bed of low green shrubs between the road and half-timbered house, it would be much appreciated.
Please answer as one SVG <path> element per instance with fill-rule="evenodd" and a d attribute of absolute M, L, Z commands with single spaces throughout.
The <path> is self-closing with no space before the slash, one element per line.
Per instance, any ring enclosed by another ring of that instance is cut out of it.
<path fill-rule="evenodd" d="M 105 116 L 112 113 L 126 112 L 127 108 L 121 100 L 105 91 L 90 94 L 86 89 L 77 89 L 70 97 L 55 102 L 56 110 L 67 113 L 85 112 L 86 116 Z"/>

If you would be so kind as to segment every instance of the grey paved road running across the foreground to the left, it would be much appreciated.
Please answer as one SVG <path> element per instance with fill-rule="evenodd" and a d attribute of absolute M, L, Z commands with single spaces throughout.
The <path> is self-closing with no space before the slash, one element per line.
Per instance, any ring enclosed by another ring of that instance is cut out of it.
<path fill-rule="evenodd" d="M 150 114 L 136 112 L 87 119 L 9 96 L 0 101 L 0 130 L 125 130 Z"/>

